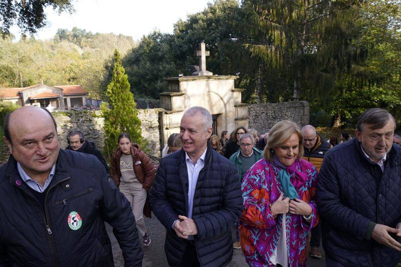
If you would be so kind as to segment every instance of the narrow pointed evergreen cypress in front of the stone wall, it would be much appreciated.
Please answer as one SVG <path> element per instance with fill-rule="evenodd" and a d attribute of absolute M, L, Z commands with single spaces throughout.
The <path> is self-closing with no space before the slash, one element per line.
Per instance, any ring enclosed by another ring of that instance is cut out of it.
<path fill-rule="evenodd" d="M 106 96 L 108 106 L 103 103 L 101 110 L 104 117 L 104 149 L 109 160 L 122 132 L 128 133 L 133 143 L 144 148 L 147 142 L 141 135 L 141 122 L 137 117 L 134 96 L 130 92 L 128 76 L 125 74 L 117 49 L 114 51 L 113 76 L 107 86 Z"/>

